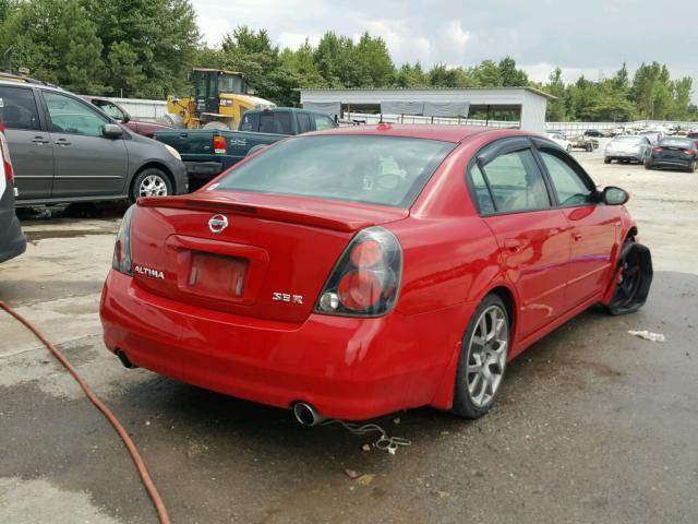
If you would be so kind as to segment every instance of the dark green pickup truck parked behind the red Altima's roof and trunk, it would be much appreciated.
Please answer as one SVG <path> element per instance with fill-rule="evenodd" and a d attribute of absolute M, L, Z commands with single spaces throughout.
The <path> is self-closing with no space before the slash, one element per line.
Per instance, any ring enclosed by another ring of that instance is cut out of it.
<path fill-rule="evenodd" d="M 158 131 L 154 138 L 179 152 L 186 166 L 189 187 L 196 189 L 240 162 L 255 146 L 336 127 L 337 123 L 323 112 L 277 107 L 246 111 L 238 131 L 172 129 Z"/>

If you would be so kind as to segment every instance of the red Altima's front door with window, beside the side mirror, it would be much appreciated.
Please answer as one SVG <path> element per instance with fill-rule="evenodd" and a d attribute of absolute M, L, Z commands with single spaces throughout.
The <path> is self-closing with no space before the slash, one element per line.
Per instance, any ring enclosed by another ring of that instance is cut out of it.
<path fill-rule="evenodd" d="M 609 282 L 611 252 L 621 218 L 598 203 L 593 182 L 569 156 L 539 142 L 539 155 L 555 190 L 570 234 L 566 308 L 571 309 Z"/>

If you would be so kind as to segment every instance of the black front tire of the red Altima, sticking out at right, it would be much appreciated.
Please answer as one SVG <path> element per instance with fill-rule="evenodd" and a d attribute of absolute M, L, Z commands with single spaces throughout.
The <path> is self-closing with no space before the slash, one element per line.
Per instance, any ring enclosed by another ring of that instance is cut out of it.
<path fill-rule="evenodd" d="M 613 315 L 634 313 L 645 306 L 652 284 L 650 250 L 628 238 L 621 250 L 616 271 L 621 274 L 606 311 Z"/>

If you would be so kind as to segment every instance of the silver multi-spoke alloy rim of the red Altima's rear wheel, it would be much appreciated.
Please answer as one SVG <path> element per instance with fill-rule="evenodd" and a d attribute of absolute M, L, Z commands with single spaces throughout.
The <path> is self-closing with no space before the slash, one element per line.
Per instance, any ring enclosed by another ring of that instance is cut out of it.
<path fill-rule="evenodd" d="M 485 309 L 470 338 L 466 381 L 476 407 L 489 405 L 496 395 L 509 348 L 506 313 L 498 306 Z"/>

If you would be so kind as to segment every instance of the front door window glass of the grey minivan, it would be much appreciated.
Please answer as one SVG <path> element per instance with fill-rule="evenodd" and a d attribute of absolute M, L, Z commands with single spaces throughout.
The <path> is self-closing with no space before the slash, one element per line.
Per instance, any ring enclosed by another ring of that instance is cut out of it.
<path fill-rule="evenodd" d="M 51 119 L 51 131 L 58 133 L 101 136 L 105 123 L 109 121 L 70 96 L 44 92 L 44 99 Z"/>

